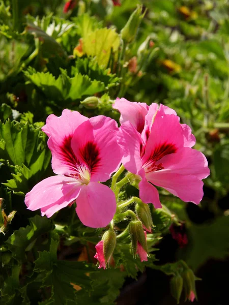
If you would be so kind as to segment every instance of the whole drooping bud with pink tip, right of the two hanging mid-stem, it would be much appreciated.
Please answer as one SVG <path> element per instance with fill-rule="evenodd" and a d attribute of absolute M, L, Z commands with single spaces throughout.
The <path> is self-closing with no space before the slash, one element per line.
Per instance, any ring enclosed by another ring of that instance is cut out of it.
<path fill-rule="evenodd" d="M 129 223 L 129 232 L 132 243 L 133 255 L 136 258 L 138 254 L 141 261 L 147 261 L 147 241 L 146 231 L 142 228 L 142 224 L 139 220 L 131 221 Z"/>

